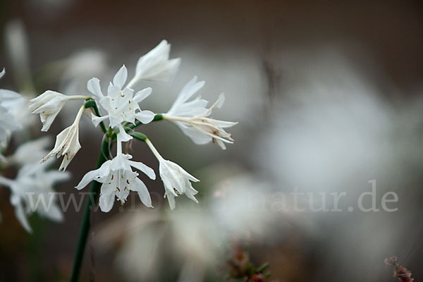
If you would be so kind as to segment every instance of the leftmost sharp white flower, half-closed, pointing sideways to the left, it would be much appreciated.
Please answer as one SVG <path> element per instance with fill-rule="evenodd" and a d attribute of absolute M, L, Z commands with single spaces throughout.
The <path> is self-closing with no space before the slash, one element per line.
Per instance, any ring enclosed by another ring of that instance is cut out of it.
<path fill-rule="evenodd" d="M 39 114 L 39 118 L 43 124 L 42 131 L 49 130 L 54 118 L 61 111 L 66 102 L 70 99 L 85 99 L 85 96 L 67 96 L 59 92 L 47 90 L 43 94 L 30 100 L 28 110 L 32 114 Z"/>

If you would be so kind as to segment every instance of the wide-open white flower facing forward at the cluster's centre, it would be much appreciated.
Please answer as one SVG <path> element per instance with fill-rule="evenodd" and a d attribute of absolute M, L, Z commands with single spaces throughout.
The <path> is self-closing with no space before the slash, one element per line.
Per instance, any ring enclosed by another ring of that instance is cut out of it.
<path fill-rule="evenodd" d="M 128 87 L 122 89 L 127 78 L 128 71 L 123 65 L 114 76 L 113 83 L 110 82 L 106 97 L 102 94 L 98 78 L 92 78 L 88 81 L 88 90 L 94 94 L 102 108 L 107 111 L 106 116 L 98 117 L 92 114 L 92 123 L 94 125 L 97 126 L 101 121 L 109 118 L 111 128 L 118 127 L 125 134 L 121 123 L 125 121 L 135 123 L 135 119 L 142 123 L 149 123 L 153 120 L 154 113 L 152 111 L 141 111 L 138 105 L 151 94 L 152 89 L 148 87 L 134 95 L 134 90 Z M 130 136 L 128 135 L 126 138 L 129 140 Z"/>

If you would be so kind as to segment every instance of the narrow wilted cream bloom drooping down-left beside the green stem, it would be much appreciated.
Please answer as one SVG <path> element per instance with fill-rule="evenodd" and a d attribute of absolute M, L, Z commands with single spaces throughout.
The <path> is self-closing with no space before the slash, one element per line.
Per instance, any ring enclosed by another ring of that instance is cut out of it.
<path fill-rule="evenodd" d="M 49 154 L 47 154 L 46 157 L 44 157 L 44 159 L 40 161 L 41 163 L 47 161 L 50 157 L 57 155 L 58 159 L 63 156 L 63 161 L 61 162 L 59 171 L 64 171 L 66 167 L 68 167 L 73 157 L 75 157 L 75 154 L 81 148 L 79 142 L 79 121 L 84 109 L 85 107 L 81 106 L 72 125 L 65 128 L 61 133 L 59 133 L 59 135 L 56 136 L 54 148 L 49 152 Z"/>

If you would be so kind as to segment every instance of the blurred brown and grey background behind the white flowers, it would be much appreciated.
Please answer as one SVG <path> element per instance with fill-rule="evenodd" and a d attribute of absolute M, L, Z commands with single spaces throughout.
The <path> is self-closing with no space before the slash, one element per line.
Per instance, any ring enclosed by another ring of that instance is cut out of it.
<path fill-rule="evenodd" d="M 0 25 L 1 88 L 87 94 L 87 80 L 106 87 L 123 63 L 133 75 L 166 39 L 180 71 L 142 85 L 153 88 L 142 109 L 167 111 L 197 75 L 205 99 L 226 94 L 213 116 L 239 122 L 226 151 L 166 121 L 140 129 L 202 180 L 200 204 L 178 197 L 171 212 L 161 182 L 142 178 L 155 208 L 133 197 L 95 213 L 81 281 L 223 281 L 240 249 L 255 266 L 269 262 L 268 281 L 396 281 L 384 264 L 391 255 L 423 277 L 420 1 L 2 0 Z M 52 140 L 75 109 L 59 114 Z M 66 197 L 97 159 L 102 135 L 90 123 L 81 123 L 73 178 L 56 188 Z M 32 128 L 43 135 L 38 117 Z M 157 171 L 144 144 L 131 146 Z M 372 180 L 380 211 L 349 211 Z M 300 198 L 304 211 L 293 208 L 295 189 L 313 195 Z M 341 212 L 309 208 L 326 195 L 333 209 L 333 192 L 346 193 Z M 396 212 L 381 209 L 386 192 L 398 195 Z M 63 223 L 32 216 L 30 235 L 9 196 L 0 189 L 0 281 L 66 281 L 82 212 L 68 209 Z"/>

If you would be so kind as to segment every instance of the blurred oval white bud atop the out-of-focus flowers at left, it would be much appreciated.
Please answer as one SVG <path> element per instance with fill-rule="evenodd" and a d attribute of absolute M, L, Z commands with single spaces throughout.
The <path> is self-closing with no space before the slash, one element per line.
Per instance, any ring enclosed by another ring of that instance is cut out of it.
<path fill-rule="evenodd" d="M 45 147 L 49 144 L 49 136 L 25 142 L 23 145 L 20 145 L 10 157 L 7 157 L 7 162 L 11 164 L 18 164 L 20 166 L 25 164 L 35 164 L 48 153 Z"/>

